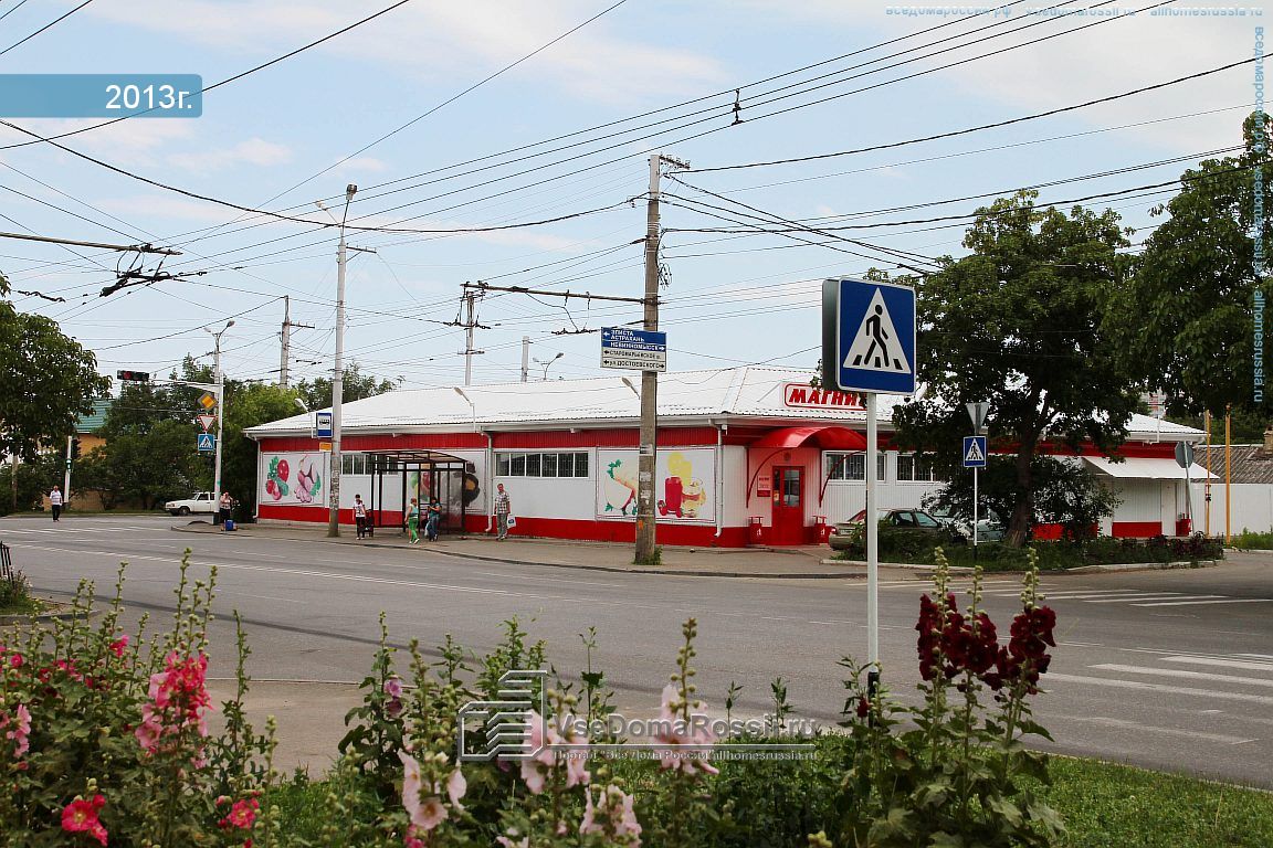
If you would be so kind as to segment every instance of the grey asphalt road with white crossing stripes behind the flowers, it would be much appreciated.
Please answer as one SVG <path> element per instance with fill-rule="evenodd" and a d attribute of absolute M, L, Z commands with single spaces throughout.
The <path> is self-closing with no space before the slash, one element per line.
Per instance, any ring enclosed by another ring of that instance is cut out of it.
<path fill-rule="evenodd" d="M 81 577 L 108 595 L 129 562 L 130 613 L 172 609 L 177 562 L 218 568 L 214 673 L 232 674 L 239 610 L 251 673 L 271 680 L 356 681 L 369 667 L 378 614 L 391 638 L 439 645 L 452 634 L 485 651 L 513 615 L 547 639 L 563 673 L 582 667 L 579 633 L 596 626 L 593 662 L 631 712 L 657 708 L 680 626 L 699 620 L 699 687 L 722 709 L 769 707 L 782 676 L 797 715 L 833 722 L 843 707 L 836 661 L 866 653 L 862 581 L 740 580 L 621 575 L 477 562 L 428 548 L 359 549 L 322 542 L 174 533 L 172 519 L 47 517 L 0 521 L 0 540 L 36 589 L 73 592 Z M 961 581 L 960 586 L 966 581 Z M 914 698 L 914 622 L 925 584 L 886 580 L 881 656 L 886 681 Z M 985 606 L 1006 634 L 1018 609 L 1016 577 L 990 577 Z M 1273 556 L 1237 554 L 1218 568 L 1045 576 L 1059 648 L 1036 717 L 1055 737 L 1043 748 L 1273 788 Z M 288 716 L 279 717 L 286 723 Z"/>

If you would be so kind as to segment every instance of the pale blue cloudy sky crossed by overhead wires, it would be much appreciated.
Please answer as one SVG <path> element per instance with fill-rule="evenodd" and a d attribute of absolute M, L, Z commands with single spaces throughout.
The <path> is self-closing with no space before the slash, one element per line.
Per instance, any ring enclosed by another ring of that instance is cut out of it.
<path fill-rule="evenodd" d="M 0 0 L 0 74 L 179 72 L 207 86 L 393 5 L 92 0 L 18 43 L 81 3 Z M 290 319 L 309 325 L 292 333 L 292 380 L 330 375 L 339 235 L 314 201 L 339 217 L 354 183 L 346 364 L 411 388 L 460 385 L 465 331 L 448 323 L 466 281 L 642 296 L 648 156 L 661 151 L 690 164 L 662 182 L 668 367 L 812 369 L 821 280 L 965 252 L 969 219 L 904 221 L 1054 181 L 1085 178 L 1040 188 L 1064 207 L 1172 181 L 1240 144 L 1255 67 L 897 142 L 1249 60 L 1260 13 L 1200 0 L 409 0 L 207 92 L 199 118 L 59 141 L 97 163 L 0 126 L 0 230 L 181 252 L 159 268 L 176 278 L 106 297 L 120 270 L 155 271 L 158 258 L 0 239 L 0 273 L 15 292 L 64 297 L 10 295 L 56 319 L 103 374 L 165 375 L 187 353 L 210 364 L 205 328 L 233 319 L 227 375 L 276 381 L 288 296 Z M 6 120 L 46 137 L 101 123 Z M 883 145 L 895 146 L 847 153 Z M 729 168 L 779 159 L 803 160 Z M 1139 244 L 1170 196 L 1086 205 L 1118 211 Z M 566 220 L 536 224 L 549 219 Z M 868 229 L 747 226 L 761 219 Z M 703 231 L 721 228 L 745 231 Z M 472 381 L 518 380 L 523 337 L 531 379 L 614 375 L 594 331 L 640 317 L 636 304 L 488 292 Z"/>

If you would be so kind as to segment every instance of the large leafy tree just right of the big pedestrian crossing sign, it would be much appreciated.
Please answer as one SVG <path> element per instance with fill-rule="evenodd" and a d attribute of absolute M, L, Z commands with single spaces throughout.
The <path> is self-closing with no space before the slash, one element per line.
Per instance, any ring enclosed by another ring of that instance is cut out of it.
<path fill-rule="evenodd" d="M 1139 403 L 1101 320 L 1108 292 L 1130 270 L 1118 253 L 1128 244 L 1119 217 L 1037 209 L 1036 196 L 1018 192 L 978 210 L 964 239 L 973 253 L 915 282 L 927 390 L 894 413 L 899 442 L 936 449 L 936 469 L 955 481 L 964 475 L 960 437 L 971 427 L 964 404 L 989 402 L 992 441 L 1012 458 L 1001 515 L 1016 547 L 1041 517 L 1040 484 L 1060 477 L 1051 469 L 1040 478 L 1040 448 L 1090 440 L 1110 453 Z"/>

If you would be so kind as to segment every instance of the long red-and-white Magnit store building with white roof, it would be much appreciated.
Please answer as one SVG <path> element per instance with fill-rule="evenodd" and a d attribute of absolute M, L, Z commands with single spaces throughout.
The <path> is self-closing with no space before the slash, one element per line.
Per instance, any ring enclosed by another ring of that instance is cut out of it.
<path fill-rule="evenodd" d="M 360 496 L 377 528 L 400 528 L 405 505 L 437 498 L 448 531 L 494 526 L 503 484 L 513 533 L 631 542 L 635 535 L 639 381 L 597 378 L 404 389 L 342 407 L 340 517 Z M 890 444 L 905 398 L 881 395 L 876 474 L 883 507 L 920 506 L 937 491 L 927 464 Z M 1125 462 L 1080 451 L 1123 500 L 1102 526 L 1113 535 L 1166 535 L 1185 507 L 1176 441 L 1202 432 L 1137 416 Z M 798 545 L 866 502 L 866 409 L 861 399 L 810 386 L 810 374 L 770 367 L 665 374 L 658 384 L 657 542 L 680 545 Z M 261 521 L 325 523 L 330 454 L 314 414 L 253 427 L 260 445 Z M 959 445 L 951 446 L 957 450 Z M 1206 470 L 1192 469 L 1198 488 Z"/>

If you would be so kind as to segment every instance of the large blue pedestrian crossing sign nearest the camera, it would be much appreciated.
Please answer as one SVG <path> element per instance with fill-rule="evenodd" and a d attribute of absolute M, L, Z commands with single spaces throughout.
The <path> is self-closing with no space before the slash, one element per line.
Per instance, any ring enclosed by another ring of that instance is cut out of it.
<path fill-rule="evenodd" d="M 822 370 L 841 392 L 915 392 L 915 290 L 871 280 L 822 284 Z"/>

